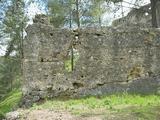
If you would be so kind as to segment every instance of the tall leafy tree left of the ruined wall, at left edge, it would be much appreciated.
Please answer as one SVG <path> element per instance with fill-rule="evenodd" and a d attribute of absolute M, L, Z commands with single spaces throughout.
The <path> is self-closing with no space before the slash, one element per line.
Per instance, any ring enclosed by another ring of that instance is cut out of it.
<path fill-rule="evenodd" d="M 25 4 L 23 0 L 9 0 L 9 4 L 3 10 L 1 27 L 3 33 L 2 44 L 6 45 L 5 57 L 0 56 L 0 83 L 11 90 L 14 80 L 21 76 L 23 58 L 23 32 L 27 18 L 25 16 Z M 1 9 L 2 10 L 2 9 Z M 3 67 L 2 67 L 3 64 Z M 9 84 L 10 83 L 10 84 Z M 7 87 L 8 86 L 8 87 Z"/>

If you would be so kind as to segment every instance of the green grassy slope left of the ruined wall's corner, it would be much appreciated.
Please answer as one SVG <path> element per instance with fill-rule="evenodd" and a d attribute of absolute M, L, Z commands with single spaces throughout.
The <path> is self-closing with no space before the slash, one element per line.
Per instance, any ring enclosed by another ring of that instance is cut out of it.
<path fill-rule="evenodd" d="M 0 101 L 0 118 L 17 107 L 21 96 L 22 93 L 20 90 L 13 90 L 2 101 Z"/>

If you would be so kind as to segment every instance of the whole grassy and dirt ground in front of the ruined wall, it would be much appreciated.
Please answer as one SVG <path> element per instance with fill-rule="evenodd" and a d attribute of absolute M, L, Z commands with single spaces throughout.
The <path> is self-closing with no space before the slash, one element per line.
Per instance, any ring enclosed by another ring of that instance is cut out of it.
<path fill-rule="evenodd" d="M 11 118 L 7 120 L 160 120 L 159 95 L 124 93 L 81 99 L 46 99 L 29 109 L 16 109 L 20 98 L 21 93 L 14 91 L 0 102 L 1 115 L 14 111 L 6 114 Z"/>

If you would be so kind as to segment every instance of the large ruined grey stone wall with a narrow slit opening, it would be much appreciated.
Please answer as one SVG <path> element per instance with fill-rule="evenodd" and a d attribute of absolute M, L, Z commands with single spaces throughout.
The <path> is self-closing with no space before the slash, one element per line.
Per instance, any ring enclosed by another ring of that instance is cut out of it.
<path fill-rule="evenodd" d="M 158 29 L 56 29 L 34 23 L 24 42 L 25 104 L 45 98 L 113 93 L 157 93 L 160 79 Z M 71 48 L 78 56 L 66 68 Z"/>

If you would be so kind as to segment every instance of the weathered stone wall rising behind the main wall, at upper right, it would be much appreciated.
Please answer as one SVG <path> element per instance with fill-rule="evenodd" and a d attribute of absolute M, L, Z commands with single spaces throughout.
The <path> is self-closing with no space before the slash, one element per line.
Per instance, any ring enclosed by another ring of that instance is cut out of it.
<path fill-rule="evenodd" d="M 156 18 L 160 28 L 160 1 L 157 1 Z M 128 26 L 152 27 L 151 5 L 147 4 L 140 8 L 133 8 L 125 17 L 116 19 L 112 22 L 114 27 Z"/>

